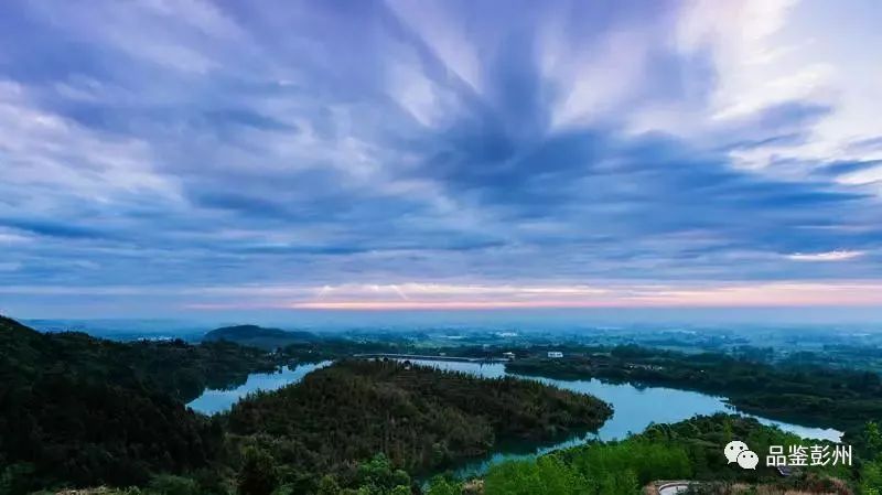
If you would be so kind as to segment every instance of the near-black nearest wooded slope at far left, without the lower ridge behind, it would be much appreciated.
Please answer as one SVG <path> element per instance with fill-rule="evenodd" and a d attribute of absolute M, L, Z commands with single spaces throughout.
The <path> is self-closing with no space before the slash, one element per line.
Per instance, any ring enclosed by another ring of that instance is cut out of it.
<path fill-rule="evenodd" d="M 137 484 L 209 461 L 220 431 L 106 358 L 120 345 L 0 318 L 0 476 L 15 491 Z"/>

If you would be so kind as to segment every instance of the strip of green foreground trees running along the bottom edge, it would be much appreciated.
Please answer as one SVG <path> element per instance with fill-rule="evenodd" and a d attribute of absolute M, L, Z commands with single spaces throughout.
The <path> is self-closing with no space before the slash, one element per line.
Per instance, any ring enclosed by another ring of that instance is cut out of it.
<path fill-rule="evenodd" d="M 862 432 L 853 466 L 816 466 L 789 477 L 765 466 L 745 471 L 727 464 L 719 449 L 732 439 L 744 439 L 757 452 L 767 452 L 773 444 L 804 443 L 754 419 L 714 415 L 652 426 L 622 441 L 593 442 L 533 460 L 502 462 L 481 477 L 467 480 L 438 475 L 420 484 L 378 454 L 349 464 L 343 472 L 321 476 L 311 488 L 286 480 L 289 472 L 283 462 L 249 446 L 243 451 L 243 466 L 229 489 L 247 495 L 638 495 L 654 481 L 691 480 L 691 495 L 880 494 L 882 434 L 873 422 Z M 222 493 L 206 491 L 205 486 L 193 478 L 161 475 L 140 488 L 101 488 L 79 495 Z"/>

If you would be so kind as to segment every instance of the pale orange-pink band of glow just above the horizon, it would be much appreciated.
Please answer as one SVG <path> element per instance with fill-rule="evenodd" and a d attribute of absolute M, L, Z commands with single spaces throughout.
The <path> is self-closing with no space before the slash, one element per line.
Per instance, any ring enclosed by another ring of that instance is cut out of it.
<path fill-rule="evenodd" d="M 293 290 L 292 290 L 293 291 Z M 774 308 L 882 305 L 882 283 L 775 282 L 722 287 L 671 286 L 340 286 L 304 297 L 284 290 L 243 294 L 236 302 L 187 304 L 196 310 L 290 309 L 332 311 L 505 310 L 568 308 Z M 310 292 L 310 291 L 305 291 Z M 266 294 L 265 294 L 266 295 Z"/>

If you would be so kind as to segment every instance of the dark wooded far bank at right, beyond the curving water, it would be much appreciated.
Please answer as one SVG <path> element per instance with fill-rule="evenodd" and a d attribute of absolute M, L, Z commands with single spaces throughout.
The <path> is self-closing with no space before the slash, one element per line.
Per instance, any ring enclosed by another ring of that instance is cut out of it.
<path fill-rule="evenodd" d="M 550 379 L 601 378 L 725 396 L 744 412 L 841 431 L 882 417 L 882 379 L 870 372 L 774 366 L 723 354 L 687 355 L 636 346 L 562 359 L 530 356 L 506 368 Z"/>

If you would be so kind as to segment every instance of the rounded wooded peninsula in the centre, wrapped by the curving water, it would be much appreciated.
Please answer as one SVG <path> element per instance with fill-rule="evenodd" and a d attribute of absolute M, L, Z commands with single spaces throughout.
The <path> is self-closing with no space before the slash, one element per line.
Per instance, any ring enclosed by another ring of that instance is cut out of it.
<path fill-rule="evenodd" d="M 310 472 L 385 453 L 413 472 L 486 453 L 501 440 L 550 440 L 611 415 L 590 396 L 398 362 L 344 361 L 234 406 L 229 429 L 272 438 L 277 461 Z"/>

